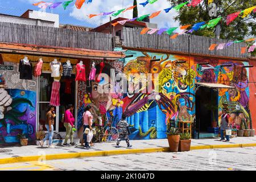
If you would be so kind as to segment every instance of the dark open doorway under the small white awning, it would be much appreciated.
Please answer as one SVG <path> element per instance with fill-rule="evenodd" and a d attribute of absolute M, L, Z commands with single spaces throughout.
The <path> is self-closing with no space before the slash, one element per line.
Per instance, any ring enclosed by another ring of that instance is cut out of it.
<path fill-rule="evenodd" d="M 199 129 L 200 133 L 208 133 L 208 128 L 211 127 L 212 121 L 217 121 L 217 106 L 217 90 L 200 86 L 196 92 L 196 128 Z"/>

